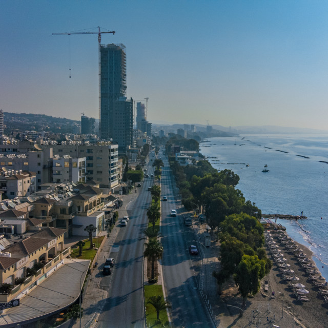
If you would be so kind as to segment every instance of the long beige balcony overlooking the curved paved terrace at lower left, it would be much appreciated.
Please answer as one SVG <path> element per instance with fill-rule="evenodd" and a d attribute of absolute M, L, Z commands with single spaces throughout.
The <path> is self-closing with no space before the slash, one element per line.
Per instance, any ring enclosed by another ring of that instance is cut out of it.
<path fill-rule="evenodd" d="M 0 294 L 0 303 L 8 303 L 11 299 L 17 298 L 17 296 L 27 289 L 27 287 L 35 283 L 40 277 L 43 277 L 56 265 L 59 261 L 68 257 L 71 254 L 71 248 L 67 248 L 63 253 L 59 253 L 55 258 L 51 259 L 42 269 L 38 270 L 35 275 L 27 277 L 25 281 L 11 291 L 10 294 Z"/>

